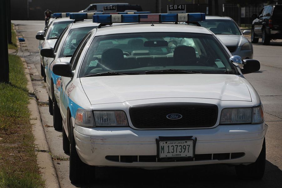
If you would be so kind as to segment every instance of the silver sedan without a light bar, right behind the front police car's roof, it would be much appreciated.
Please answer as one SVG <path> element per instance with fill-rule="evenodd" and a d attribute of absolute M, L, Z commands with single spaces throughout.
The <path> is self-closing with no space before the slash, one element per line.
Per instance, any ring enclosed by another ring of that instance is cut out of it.
<path fill-rule="evenodd" d="M 206 16 L 206 21 L 200 24 L 216 34 L 232 55 L 239 55 L 243 59 L 253 58 L 253 45 L 244 36 L 250 34 L 250 31 L 242 33 L 232 18 Z"/>

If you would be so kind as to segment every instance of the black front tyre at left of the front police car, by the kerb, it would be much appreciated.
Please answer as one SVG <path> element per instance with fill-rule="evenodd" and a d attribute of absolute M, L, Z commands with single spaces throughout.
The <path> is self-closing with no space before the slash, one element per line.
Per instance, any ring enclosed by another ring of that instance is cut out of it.
<path fill-rule="evenodd" d="M 73 135 L 72 118 L 69 119 L 70 147 L 69 147 L 69 179 L 72 183 L 81 183 L 95 178 L 95 167 L 83 163 L 76 151 Z"/>

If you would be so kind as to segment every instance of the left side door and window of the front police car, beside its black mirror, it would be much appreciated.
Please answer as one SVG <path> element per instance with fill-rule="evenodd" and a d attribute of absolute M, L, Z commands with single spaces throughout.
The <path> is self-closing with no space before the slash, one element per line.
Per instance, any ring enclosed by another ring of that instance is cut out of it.
<path fill-rule="evenodd" d="M 73 56 L 70 60 L 70 64 L 72 64 L 72 71 L 76 70 L 76 66 L 78 64 L 79 57 L 88 42 L 89 38 L 91 36 L 91 33 L 86 34 L 86 36 L 81 40 L 79 43 L 78 47 L 76 48 L 75 52 L 73 53 Z M 67 112 L 68 112 L 68 105 L 70 102 L 69 99 L 69 93 L 67 92 L 69 88 L 71 88 L 71 82 L 73 78 L 68 78 L 68 77 L 62 77 L 61 78 L 61 91 L 60 91 L 60 111 L 61 115 L 64 121 L 64 125 L 66 123 L 66 118 L 67 118 Z M 68 129 L 68 127 L 65 127 Z"/>

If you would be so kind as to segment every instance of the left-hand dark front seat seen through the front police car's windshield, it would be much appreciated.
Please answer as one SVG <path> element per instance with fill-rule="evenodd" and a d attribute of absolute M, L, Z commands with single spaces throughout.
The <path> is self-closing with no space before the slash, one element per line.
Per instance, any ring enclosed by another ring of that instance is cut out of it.
<path fill-rule="evenodd" d="M 115 71 L 124 68 L 123 51 L 118 48 L 105 50 L 101 56 L 101 68 L 103 71 Z"/>

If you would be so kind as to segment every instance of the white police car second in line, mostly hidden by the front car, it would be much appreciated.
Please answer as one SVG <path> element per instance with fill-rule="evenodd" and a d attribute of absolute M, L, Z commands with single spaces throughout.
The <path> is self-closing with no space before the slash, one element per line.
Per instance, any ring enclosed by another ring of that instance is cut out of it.
<path fill-rule="evenodd" d="M 47 91 L 49 95 L 49 111 L 53 111 L 53 127 L 55 130 L 62 129 L 62 117 L 58 108 L 59 92 L 60 92 L 60 80 L 61 77 L 55 75 L 52 71 L 52 67 L 58 62 L 69 62 L 76 47 L 83 39 L 83 37 L 93 28 L 98 27 L 97 23 L 93 23 L 92 20 L 79 19 L 72 17 L 75 23 L 69 24 L 56 41 L 54 48 L 45 47 L 40 50 L 40 54 L 46 57 L 46 83 Z M 86 15 L 87 16 L 87 15 Z M 91 16 L 92 17 L 92 16 Z M 87 19 L 87 18 L 86 18 Z"/>

